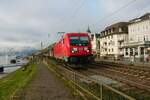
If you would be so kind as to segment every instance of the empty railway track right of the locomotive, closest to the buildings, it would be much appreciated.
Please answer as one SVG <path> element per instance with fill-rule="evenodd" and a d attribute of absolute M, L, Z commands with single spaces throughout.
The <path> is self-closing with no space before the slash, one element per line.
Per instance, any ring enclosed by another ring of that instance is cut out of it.
<path fill-rule="evenodd" d="M 150 92 L 150 71 L 133 67 L 114 67 L 110 65 L 92 64 L 89 67 L 91 73 L 109 77 Z M 101 68 L 100 68 L 101 67 Z"/>

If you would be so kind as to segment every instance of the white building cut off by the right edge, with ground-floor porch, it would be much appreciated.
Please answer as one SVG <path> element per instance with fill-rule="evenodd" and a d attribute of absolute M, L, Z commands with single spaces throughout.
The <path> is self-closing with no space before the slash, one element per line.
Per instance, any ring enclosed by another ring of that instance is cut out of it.
<path fill-rule="evenodd" d="M 128 41 L 124 47 L 124 57 L 132 61 L 146 61 L 150 47 L 150 13 L 129 21 Z"/>

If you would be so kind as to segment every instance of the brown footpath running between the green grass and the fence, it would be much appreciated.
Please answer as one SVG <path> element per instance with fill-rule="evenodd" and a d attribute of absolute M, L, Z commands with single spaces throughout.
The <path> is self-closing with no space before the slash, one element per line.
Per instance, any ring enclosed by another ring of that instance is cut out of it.
<path fill-rule="evenodd" d="M 24 100 L 77 100 L 44 64 L 37 67 L 37 75 L 25 89 Z"/>

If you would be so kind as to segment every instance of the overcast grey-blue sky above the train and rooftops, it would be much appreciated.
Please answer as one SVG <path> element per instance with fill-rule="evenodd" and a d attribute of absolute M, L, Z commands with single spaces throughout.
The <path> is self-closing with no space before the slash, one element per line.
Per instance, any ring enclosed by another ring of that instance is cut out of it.
<path fill-rule="evenodd" d="M 85 32 L 88 25 L 100 32 L 150 12 L 150 0 L 132 1 L 0 0 L 0 48 L 39 47 L 56 41 L 57 32 Z"/>

